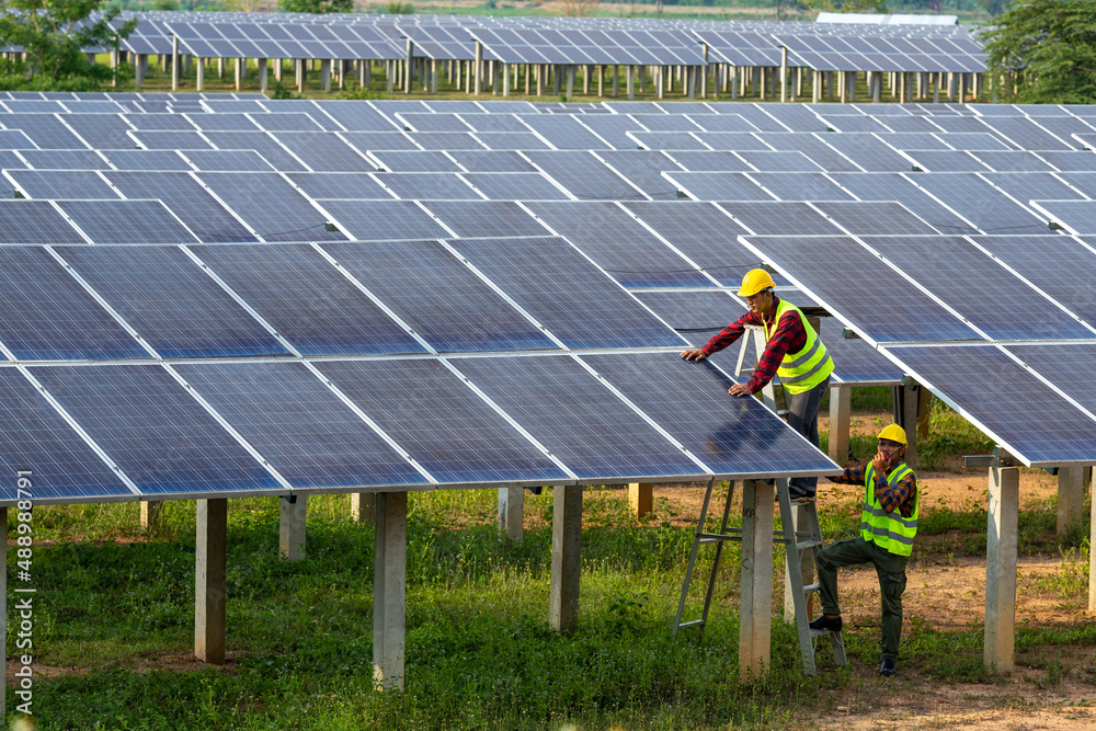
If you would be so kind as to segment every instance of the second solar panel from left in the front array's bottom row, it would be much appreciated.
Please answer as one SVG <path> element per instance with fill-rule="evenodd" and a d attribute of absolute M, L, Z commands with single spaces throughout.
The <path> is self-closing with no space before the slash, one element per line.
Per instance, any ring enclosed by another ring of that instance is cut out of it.
<path fill-rule="evenodd" d="M 55 366 L 32 374 L 142 493 L 284 491 L 160 366 Z"/>

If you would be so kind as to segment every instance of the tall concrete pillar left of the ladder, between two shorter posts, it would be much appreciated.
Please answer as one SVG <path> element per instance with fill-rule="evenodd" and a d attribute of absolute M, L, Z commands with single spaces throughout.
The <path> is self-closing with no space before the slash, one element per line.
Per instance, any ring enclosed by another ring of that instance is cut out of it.
<path fill-rule="evenodd" d="M 582 566 L 582 486 L 552 489 L 551 586 L 548 623 L 558 632 L 579 627 L 579 576 Z"/>

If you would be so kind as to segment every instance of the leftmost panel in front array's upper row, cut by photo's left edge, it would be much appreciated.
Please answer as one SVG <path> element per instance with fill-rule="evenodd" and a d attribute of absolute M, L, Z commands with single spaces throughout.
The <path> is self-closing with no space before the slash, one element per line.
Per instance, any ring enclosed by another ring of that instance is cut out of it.
<path fill-rule="evenodd" d="M 20 361 L 149 357 L 44 249 L 0 249 L 0 342 Z"/>

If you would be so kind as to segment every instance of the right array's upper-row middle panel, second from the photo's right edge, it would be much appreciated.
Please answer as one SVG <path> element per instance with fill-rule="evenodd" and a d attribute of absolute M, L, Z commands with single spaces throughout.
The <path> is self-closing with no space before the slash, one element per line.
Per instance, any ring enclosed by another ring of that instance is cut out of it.
<path fill-rule="evenodd" d="M 966 239 L 902 236 L 863 241 L 995 340 L 1069 340 L 1094 334 Z M 962 279 L 937 276 L 944 267 L 966 275 Z"/>

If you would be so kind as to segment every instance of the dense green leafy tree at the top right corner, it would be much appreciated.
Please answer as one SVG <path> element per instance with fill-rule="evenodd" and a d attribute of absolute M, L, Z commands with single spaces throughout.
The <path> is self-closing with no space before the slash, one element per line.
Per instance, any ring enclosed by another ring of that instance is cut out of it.
<path fill-rule="evenodd" d="M 1001 101 L 1096 102 L 1093 0 L 1020 0 L 982 32 L 982 41 Z"/>

